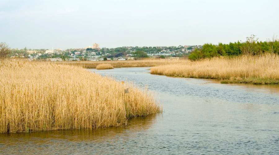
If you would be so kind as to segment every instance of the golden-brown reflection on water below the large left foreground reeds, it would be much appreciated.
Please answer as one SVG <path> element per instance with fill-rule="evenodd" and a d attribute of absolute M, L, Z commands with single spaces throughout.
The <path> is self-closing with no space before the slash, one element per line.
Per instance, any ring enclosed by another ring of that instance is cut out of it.
<path fill-rule="evenodd" d="M 39 131 L 29 133 L 8 133 L 0 134 L 0 144 L 17 144 L 20 139 L 22 141 L 32 140 L 33 143 L 41 143 L 42 141 L 49 141 L 48 139 L 63 139 L 69 141 L 91 141 L 111 139 L 116 135 L 129 134 L 126 131 L 142 131 L 148 128 L 154 122 L 157 115 L 149 115 L 146 117 L 135 117 L 128 121 L 127 126 L 101 128 L 96 130 L 57 130 L 57 131 Z"/>

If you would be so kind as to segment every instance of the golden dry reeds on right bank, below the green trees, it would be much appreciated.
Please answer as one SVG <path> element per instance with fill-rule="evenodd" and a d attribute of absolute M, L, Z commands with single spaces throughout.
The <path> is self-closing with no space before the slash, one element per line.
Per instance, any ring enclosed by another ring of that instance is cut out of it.
<path fill-rule="evenodd" d="M 180 64 L 152 67 L 151 73 L 185 78 L 222 79 L 222 83 L 278 84 L 279 56 L 265 54 L 187 60 Z"/>

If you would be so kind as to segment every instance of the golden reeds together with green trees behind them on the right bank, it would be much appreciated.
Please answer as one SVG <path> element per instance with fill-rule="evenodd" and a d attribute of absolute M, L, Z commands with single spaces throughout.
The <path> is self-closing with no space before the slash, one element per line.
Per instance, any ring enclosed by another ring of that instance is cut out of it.
<path fill-rule="evenodd" d="M 152 74 L 185 78 L 220 79 L 221 83 L 279 83 L 279 42 L 246 42 L 212 45 L 195 49 L 189 60 L 151 68 Z"/>

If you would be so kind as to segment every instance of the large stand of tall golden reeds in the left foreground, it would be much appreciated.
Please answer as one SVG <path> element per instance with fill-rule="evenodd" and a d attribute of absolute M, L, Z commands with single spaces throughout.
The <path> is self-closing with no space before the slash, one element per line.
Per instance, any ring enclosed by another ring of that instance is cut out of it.
<path fill-rule="evenodd" d="M 162 111 L 147 90 L 80 67 L 0 60 L 0 70 L 0 132 L 119 126 Z"/>

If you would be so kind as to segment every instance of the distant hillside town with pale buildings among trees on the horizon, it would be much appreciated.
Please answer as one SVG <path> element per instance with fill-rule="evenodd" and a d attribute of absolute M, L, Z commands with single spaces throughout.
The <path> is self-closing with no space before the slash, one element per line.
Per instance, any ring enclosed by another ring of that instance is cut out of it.
<path fill-rule="evenodd" d="M 29 60 L 49 61 L 100 61 L 100 60 L 135 60 L 142 57 L 178 58 L 187 57 L 201 45 L 171 47 L 117 47 L 100 48 L 98 43 L 84 48 L 74 49 L 11 49 L 11 57 L 28 58 Z"/>

